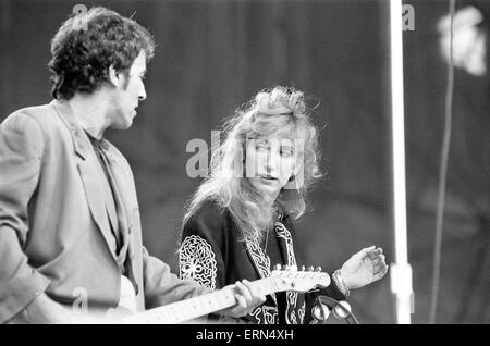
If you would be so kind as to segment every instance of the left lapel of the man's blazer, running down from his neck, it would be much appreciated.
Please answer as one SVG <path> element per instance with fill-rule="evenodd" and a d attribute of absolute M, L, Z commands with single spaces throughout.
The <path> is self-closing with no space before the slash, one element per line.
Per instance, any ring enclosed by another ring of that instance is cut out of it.
<path fill-rule="evenodd" d="M 112 258 L 115 262 L 118 262 L 115 257 L 114 236 L 111 233 L 109 223 L 105 222 L 106 206 L 103 205 L 102 196 L 100 196 L 102 189 L 99 186 L 100 183 L 98 182 L 97 176 L 94 175 L 94 171 L 96 170 L 96 164 L 98 164 L 98 162 L 90 148 L 90 141 L 76 121 L 70 106 L 57 100 L 52 101 L 50 104 L 54 107 L 58 115 L 69 128 L 70 134 L 72 135 L 75 152 L 83 159 L 83 161 L 78 164 L 78 171 L 82 177 L 91 218 L 97 224 L 99 231 L 102 233 Z"/>

